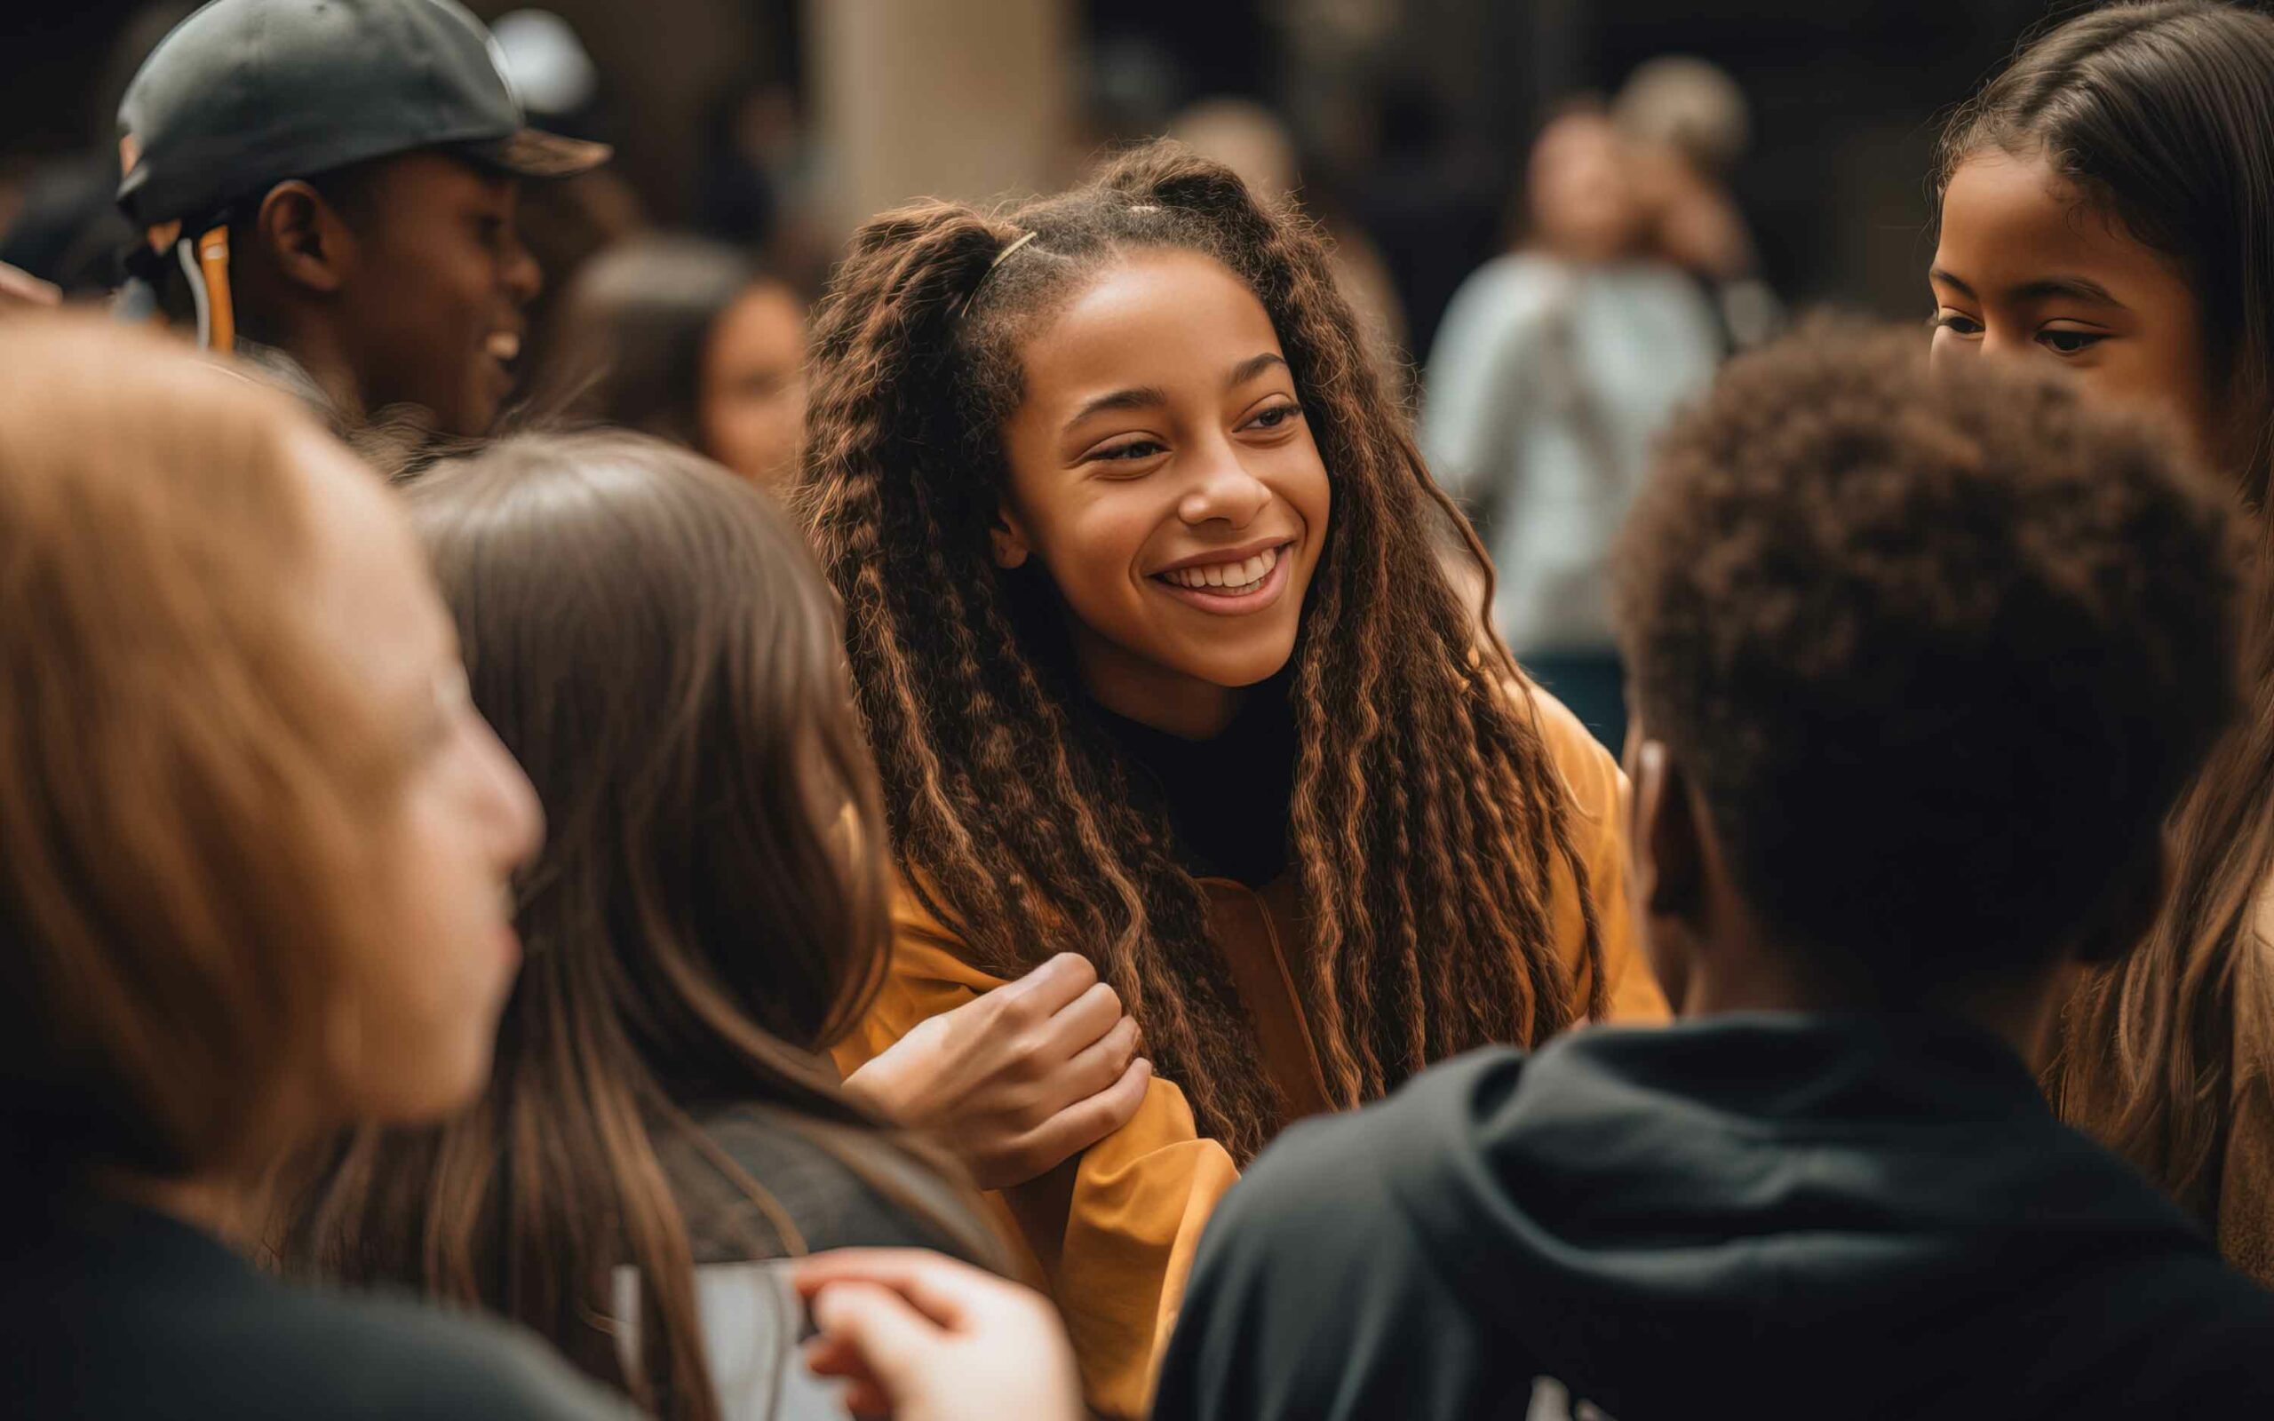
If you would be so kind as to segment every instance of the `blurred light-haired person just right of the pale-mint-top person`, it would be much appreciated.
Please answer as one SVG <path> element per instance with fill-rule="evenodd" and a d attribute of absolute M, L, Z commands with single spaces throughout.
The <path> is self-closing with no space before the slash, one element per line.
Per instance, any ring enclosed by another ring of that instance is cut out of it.
<path fill-rule="evenodd" d="M 1610 121 L 1653 214 L 1651 250 L 1699 280 L 1731 350 L 1767 341 L 1783 307 L 1760 280 L 1753 234 L 1726 186 L 1753 136 L 1744 91 L 1706 59 L 1662 55 L 1619 86 Z"/>

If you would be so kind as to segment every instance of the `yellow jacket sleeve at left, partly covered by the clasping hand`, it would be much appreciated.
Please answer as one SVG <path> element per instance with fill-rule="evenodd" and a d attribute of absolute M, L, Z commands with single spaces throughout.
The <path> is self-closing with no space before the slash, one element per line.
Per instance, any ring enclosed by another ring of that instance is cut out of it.
<path fill-rule="evenodd" d="M 869 1016 L 835 1048 L 841 1073 L 875 1059 L 928 1016 L 1003 984 L 957 957 L 955 946 L 955 934 L 903 891 L 894 905 L 891 971 Z M 1201 1230 L 1237 1178 L 1223 1146 L 1194 1128 L 1185 1091 L 1157 1075 L 1137 1116 L 1082 1155 L 1057 1248 L 1064 1287 L 1055 1300 L 1094 1412 L 1144 1416 Z M 1019 1239 L 1001 1196 L 987 1203 Z M 1032 1248 L 1023 1262 L 1032 1278 L 1044 1278 Z"/>

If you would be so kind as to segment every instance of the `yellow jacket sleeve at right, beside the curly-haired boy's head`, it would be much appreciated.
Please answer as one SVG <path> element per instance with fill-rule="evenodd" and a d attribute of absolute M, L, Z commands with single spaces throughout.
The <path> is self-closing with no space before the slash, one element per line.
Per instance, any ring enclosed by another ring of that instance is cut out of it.
<path fill-rule="evenodd" d="M 1667 998 L 1635 941 L 1635 916 L 1626 903 L 1626 773 L 1619 762 L 1580 725 L 1560 700 L 1539 687 L 1524 687 L 1533 705 L 1533 723 L 1562 773 L 1571 807 L 1571 848 L 1587 866 L 1587 896 L 1603 934 L 1603 973 L 1608 975 L 1610 1021 L 1651 1023 L 1667 1019 Z M 1587 1000 L 1578 953 L 1585 941 L 1578 884 L 1571 871 L 1555 864 L 1553 887 L 1555 941 L 1571 953 L 1578 998 Z"/>

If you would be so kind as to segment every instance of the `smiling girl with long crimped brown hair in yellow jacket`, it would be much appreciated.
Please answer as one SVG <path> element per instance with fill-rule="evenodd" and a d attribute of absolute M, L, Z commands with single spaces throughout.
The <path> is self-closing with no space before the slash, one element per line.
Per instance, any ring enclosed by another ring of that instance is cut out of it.
<path fill-rule="evenodd" d="M 816 318 L 800 505 L 905 887 L 839 1059 L 1067 948 L 1167 1078 L 1010 1196 L 1094 1407 L 1144 1407 L 1198 1230 L 1280 1125 L 1662 1014 L 1617 766 L 1474 650 L 1319 241 L 1230 171 L 1157 146 L 869 223 Z"/>

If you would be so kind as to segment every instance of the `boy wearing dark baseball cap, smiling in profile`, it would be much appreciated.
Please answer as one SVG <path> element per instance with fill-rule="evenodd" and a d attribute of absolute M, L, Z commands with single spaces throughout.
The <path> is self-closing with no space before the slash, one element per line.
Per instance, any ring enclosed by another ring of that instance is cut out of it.
<path fill-rule="evenodd" d="M 541 282 L 518 180 L 607 159 L 525 125 L 455 0 L 214 0 L 143 61 L 118 127 L 130 268 L 202 343 L 334 425 L 439 434 L 487 432 L 512 389 Z"/>

